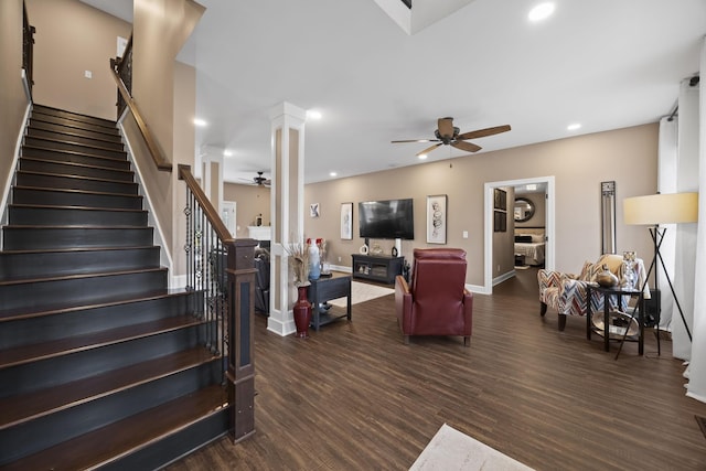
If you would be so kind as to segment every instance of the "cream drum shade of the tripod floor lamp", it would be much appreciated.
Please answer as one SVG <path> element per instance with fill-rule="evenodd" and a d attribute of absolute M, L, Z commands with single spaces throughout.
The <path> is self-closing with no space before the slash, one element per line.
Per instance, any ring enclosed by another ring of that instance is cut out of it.
<path fill-rule="evenodd" d="M 627 197 L 623 204 L 625 224 L 678 224 L 698 221 L 698 193 L 651 194 Z"/>

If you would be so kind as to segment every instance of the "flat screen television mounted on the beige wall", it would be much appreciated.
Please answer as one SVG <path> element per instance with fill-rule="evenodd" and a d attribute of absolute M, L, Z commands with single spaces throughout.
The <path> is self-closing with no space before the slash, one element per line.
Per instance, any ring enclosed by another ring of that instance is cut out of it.
<path fill-rule="evenodd" d="M 363 238 L 415 238 L 414 200 L 364 201 L 357 204 Z"/>

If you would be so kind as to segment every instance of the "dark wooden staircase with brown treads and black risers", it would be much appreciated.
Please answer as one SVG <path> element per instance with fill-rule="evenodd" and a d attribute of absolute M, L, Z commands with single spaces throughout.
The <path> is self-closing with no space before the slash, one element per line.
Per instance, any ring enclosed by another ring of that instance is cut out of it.
<path fill-rule="evenodd" d="M 6 156 L 7 158 L 7 156 Z M 34 105 L 0 251 L 0 470 L 156 469 L 228 429 L 115 122 Z"/>

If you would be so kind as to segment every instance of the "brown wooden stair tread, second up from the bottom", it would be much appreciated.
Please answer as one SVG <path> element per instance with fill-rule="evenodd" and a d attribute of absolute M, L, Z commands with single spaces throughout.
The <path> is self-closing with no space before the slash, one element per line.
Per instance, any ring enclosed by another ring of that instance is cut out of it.
<path fill-rule="evenodd" d="M 47 414 L 67 409 L 130 387 L 175 374 L 220 356 L 203 346 L 78 379 L 49 392 L 38 390 L 0 399 L 0 430 Z"/>

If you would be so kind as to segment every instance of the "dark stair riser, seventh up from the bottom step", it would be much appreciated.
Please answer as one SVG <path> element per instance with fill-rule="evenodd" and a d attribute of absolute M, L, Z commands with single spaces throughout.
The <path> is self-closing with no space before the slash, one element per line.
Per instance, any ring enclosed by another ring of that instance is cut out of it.
<path fill-rule="evenodd" d="M 6 250 L 152 245 L 152 228 L 4 227 Z"/>

